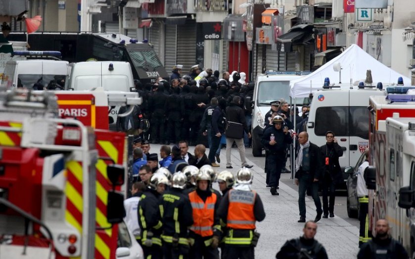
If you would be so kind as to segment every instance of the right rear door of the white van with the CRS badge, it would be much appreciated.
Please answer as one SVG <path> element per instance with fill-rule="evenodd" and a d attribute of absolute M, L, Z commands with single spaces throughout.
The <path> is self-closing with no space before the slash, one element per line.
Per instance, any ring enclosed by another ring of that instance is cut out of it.
<path fill-rule="evenodd" d="M 356 164 L 360 155 L 369 148 L 369 95 L 359 90 L 350 91 L 349 108 L 349 163 Z"/>

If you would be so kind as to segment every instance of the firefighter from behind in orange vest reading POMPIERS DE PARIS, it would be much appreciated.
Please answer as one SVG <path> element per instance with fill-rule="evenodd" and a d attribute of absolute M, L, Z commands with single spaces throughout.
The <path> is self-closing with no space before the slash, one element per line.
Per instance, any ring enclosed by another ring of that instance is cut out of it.
<path fill-rule="evenodd" d="M 218 209 L 219 217 L 226 223 L 224 259 L 252 259 L 259 233 L 255 221 L 265 218 L 264 206 L 259 195 L 251 190 L 253 174 L 242 167 L 236 174 L 236 185 L 227 192 Z"/>

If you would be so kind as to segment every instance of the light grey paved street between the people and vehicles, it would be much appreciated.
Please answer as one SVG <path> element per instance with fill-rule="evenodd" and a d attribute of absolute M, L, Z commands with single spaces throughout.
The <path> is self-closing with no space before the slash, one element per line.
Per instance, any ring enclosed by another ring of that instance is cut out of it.
<path fill-rule="evenodd" d="M 159 153 L 160 145 L 151 145 L 150 153 Z M 193 153 L 194 147 L 189 147 L 189 152 Z M 206 154 L 208 154 L 208 149 Z M 221 151 L 220 167 L 216 171 L 226 169 L 226 150 Z M 264 173 L 265 156 L 254 157 L 251 149 L 246 149 L 248 164 L 254 165 L 251 169 L 254 172 L 252 189 L 261 197 L 265 207 L 266 217 L 262 222 L 257 222 L 257 231 L 261 234 L 258 246 L 255 249 L 255 257 L 259 259 L 275 258 L 280 247 L 286 240 L 297 238 L 302 235 L 304 223 L 298 223 L 298 192 L 296 185 L 290 178 L 291 174 L 281 174 L 279 184 L 279 196 L 272 196 L 270 188 L 266 188 L 266 174 Z M 230 170 L 236 175 L 240 166 L 239 153 L 236 148 L 232 149 L 231 161 L 233 169 Z M 217 183 L 215 189 L 219 189 Z M 346 212 L 345 192 L 336 197 L 334 207 L 334 218 L 322 218 L 318 222 L 316 239 L 323 244 L 329 258 L 334 259 L 353 259 L 358 253 L 359 241 L 359 221 L 350 219 Z M 314 220 L 316 208 L 314 202 L 306 197 L 307 218 Z"/>

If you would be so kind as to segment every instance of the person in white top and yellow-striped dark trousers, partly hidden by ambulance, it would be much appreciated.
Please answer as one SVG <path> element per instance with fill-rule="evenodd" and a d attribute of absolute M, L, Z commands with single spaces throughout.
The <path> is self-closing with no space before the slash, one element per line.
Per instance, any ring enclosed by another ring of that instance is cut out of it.
<path fill-rule="evenodd" d="M 365 161 L 359 166 L 357 170 L 357 186 L 356 192 L 359 197 L 359 248 L 364 243 L 371 239 L 371 232 L 369 231 L 369 196 L 368 188 L 366 188 L 365 170 L 369 167 L 369 149 L 365 150 Z"/>

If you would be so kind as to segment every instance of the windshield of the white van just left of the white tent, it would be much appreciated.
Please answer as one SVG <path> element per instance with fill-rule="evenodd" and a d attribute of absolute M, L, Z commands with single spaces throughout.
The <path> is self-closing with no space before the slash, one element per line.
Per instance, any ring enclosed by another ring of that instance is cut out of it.
<path fill-rule="evenodd" d="M 289 100 L 289 81 L 263 81 L 258 84 L 257 106 L 269 106 L 281 98 Z"/>

